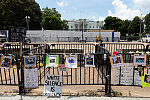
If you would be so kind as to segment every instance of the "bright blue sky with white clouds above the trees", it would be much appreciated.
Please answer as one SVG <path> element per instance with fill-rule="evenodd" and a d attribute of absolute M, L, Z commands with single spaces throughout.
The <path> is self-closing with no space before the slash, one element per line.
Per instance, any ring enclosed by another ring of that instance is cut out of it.
<path fill-rule="evenodd" d="M 102 21 L 107 16 L 132 20 L 150 13 L 150 0 L 35 0 L 40 8 L 56 8 L 65 20 Z"/>

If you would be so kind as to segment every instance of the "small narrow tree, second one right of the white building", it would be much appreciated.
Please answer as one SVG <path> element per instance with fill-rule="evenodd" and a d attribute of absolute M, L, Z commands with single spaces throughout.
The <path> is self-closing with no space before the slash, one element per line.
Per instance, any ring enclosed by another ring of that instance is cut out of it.
<path fill-rule="evenodd" d="M 120 26 L 120 33 L 121 36 L 126 36 L 126 34 L 129 33 L 129 26 L 130 26 L 131 21 L 130 20 L 123 20 L 122 24 Z"/>

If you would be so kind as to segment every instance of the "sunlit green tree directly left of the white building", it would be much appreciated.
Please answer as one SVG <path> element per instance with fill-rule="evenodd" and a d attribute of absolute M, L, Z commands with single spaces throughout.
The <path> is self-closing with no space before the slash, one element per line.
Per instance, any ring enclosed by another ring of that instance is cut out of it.
<path fill-rule="evenodd" d="M 56 8 L 44 8 L 42 11 L 41 26 L 45 30 L 67 30 L 68 25 L 66 20 L 61 20 L 61 14 L 56 11 Z"/>

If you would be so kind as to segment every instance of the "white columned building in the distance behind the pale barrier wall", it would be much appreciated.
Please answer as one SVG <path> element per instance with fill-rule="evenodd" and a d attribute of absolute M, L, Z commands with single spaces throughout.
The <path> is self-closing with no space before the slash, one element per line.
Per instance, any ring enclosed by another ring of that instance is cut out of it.
<path fill-rule="evenodd" d="M 101 29 L 104 25 L 104 21 L 91 21 L 88 19 L 69 20 L 68 26 L 71 31 L 82 31 L 87 32 L 88 30 Z"/>

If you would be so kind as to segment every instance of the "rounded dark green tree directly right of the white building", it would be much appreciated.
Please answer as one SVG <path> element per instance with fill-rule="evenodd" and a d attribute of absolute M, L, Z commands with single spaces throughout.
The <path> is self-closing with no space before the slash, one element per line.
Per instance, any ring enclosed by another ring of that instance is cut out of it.
<path fill-rule="evenodd" d="M 108 16 L 105 20 L 104 29 L 119 31 L 122 20 L 117 17 Z"/>

